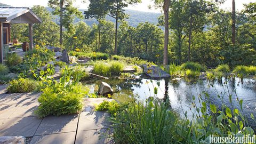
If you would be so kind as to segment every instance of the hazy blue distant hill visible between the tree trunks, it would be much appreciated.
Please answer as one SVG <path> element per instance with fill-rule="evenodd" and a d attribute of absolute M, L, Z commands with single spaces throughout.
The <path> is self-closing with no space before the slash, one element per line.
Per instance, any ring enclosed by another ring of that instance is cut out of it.
<path fill-rule="evenodd" d="M 52 9 L 50 7 L 46 7 L 48 11 L 52 11 Z M 84 9 L 81 9 L 80 11 L 82 11 L 82 13 L 84 13 Z M 129 19 L 127 19 L 126 21 L 128 21 L 129 25 L 132 27 L 137 27 L 139 25 L 140 22 L 150 22 L 150 23 L 154 23 L 157 24 L 158 23 L 158 17 L 161 15 L 161 13 L 154 13 L 154 12 L 141 12 L 141 11 L 134 11 L 134 10 L 125 10 L 126 14 L 129 14 Z M 107 20 L 110 20 L 112 22 L 115 22 L 115 19 L 109 17 L 107 15 L 106 17 Z M 78 21 L 84 21 L 87 25 L 92 26 L 93 23 L 98 23 L 98 21 L 96 19 L 75 19 L 75 23 Z M 54 21 L 56 23 L 59 23 L 59 18 L 57 16 L 55 16 Z"/>

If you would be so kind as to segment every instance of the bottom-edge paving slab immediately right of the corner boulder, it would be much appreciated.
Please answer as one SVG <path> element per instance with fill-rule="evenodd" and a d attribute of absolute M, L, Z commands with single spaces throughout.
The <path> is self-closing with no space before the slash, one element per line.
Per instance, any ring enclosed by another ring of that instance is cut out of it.
<path fill-rule="evenodd" d="M 74 144 L 76 132 L 34 136 L 30 144 Z"/>

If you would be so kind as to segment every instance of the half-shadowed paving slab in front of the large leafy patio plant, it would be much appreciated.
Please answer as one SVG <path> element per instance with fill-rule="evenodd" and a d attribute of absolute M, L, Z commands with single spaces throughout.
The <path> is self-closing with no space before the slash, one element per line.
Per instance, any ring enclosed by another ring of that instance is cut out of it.
<path fill-rule="evenodd" d="M 35 135 L 75 132 L 78 115 L 47 116 L 39 125 Z"/>

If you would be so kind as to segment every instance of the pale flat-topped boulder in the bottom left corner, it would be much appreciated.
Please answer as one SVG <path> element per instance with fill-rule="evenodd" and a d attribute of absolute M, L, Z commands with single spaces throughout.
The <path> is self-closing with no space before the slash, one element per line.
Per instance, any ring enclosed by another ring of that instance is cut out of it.
<path fill-rule="evenodd" d="M 14 137 L 8 137 L 8 136 L 3 136 L 0 137 L 0 143 L 2 144 L 25 144 L 26 143 L 26 138 L 23 136 L 14 136 Z"/>

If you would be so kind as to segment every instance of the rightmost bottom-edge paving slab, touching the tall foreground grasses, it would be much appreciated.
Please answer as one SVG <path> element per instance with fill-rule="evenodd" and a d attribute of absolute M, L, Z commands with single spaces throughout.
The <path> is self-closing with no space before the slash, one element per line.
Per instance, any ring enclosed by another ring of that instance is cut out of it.
<path fill-rule="evenodd" d="M 102 144 L 108 143 L 109 139 L 100 137 L 100 133 L 106 132 L 106 129 L 77 131 L 76 144 Z"/>

